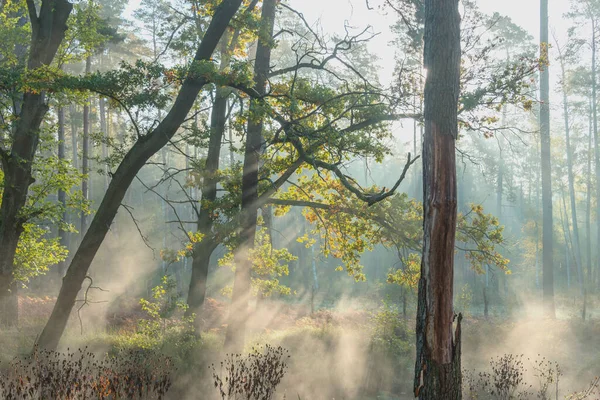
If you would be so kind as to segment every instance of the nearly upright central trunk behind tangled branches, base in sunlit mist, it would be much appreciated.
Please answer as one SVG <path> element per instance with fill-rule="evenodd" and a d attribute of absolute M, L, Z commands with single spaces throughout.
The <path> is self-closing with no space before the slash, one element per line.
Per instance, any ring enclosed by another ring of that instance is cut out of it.
<path fill-rule="evenodd" d="M 254 89 L 259 94 L 266 91 L 267 76 L 271 62 L 271 47 L 277 0 L 265 0 L 261 13 L 261 32 L 254 63 Z M 256 103 L 250 103 L 250 115 L 260 112 Z M 248 301 L 251 296 L 252 262 L 249 250 L 254 246 L 256 219 L 258 217 L 258 169 L 262 147 L 262 118 L 250 118 L 246 134 L 244 167 L 242 175 L 242 221 L 239 228 L 239 246 L 235 253 L 235 278 L 233 297 L 229 310 L 229 325 L 225 336 L 225 348 L 238 353 L 244 347 L 246 320 L 249 316 Z"/>

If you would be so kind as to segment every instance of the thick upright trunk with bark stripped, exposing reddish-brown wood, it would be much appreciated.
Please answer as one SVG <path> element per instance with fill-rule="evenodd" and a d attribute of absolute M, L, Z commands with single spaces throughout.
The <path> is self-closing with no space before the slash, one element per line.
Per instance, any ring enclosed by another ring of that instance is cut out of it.
<path fill-rule="evenodd" d="M 414 382 L 414 394 L 421 400 L 461 398 L 462 317 L 454 334 L 452 306 L 460 58 L 458 1 L 426 0 L 424 236 Z"/>

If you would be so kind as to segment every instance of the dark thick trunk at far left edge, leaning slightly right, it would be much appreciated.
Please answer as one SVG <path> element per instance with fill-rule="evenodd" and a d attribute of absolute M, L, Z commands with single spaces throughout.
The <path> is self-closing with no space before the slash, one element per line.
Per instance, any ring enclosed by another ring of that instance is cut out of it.
<path fill-rule="evenodd" d="M 31 46 L 27 69 L 50 65 L 67 30 L 73 5 L 67 0 L 43 0 L 36 11 L 29 6 Z M 46 93 L 24 93 L 19 101 L 10 152 L 0 154 L 4 172 L 4 190 L 0 205 L 0 324 L 15 325 L 18 319 L 13 268 L 23 224 L 23 208 L 29 186 L 34 182 L 33 159 L 39 144 L 40 125 L 48 111 Z"/>

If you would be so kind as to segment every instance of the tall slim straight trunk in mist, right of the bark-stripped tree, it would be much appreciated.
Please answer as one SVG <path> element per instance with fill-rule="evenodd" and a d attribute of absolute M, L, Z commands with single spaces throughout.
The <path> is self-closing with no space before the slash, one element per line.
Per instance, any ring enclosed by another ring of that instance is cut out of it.
<path fill-rule="evenodd" d="M 550 153 L 550 71 L 548 65 L 548 0 L 540 0 L 540 54 L 542 59 L 540 77 L 540 138 L 542 166 L 542 290 L 544 313 L 555 318 L 554 309 L 554 261 L 552 259 L 552 165 Z"/>

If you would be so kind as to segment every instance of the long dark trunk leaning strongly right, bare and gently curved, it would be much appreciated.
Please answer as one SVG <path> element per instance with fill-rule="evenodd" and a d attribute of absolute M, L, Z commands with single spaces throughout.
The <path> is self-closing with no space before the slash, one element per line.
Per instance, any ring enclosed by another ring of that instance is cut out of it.
<path fill-rule="evenodd" d="M 196 52 L 196 61 L 210 59 L 241 3 L 242 0 L 225 0 L 218 6 Z M 175 135 L 206 83 L 205 78 L 187 77 L 169 113 L 152 132 L 139 139 L 123 158 L 63 279 L 50 319 L 38 338 L 37 344 L 40 347 L 56 349 L 58 346 L 77 294 L 127 193 L 127 188 L 150 157 L 160 151 Z"/>

